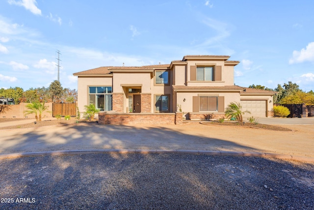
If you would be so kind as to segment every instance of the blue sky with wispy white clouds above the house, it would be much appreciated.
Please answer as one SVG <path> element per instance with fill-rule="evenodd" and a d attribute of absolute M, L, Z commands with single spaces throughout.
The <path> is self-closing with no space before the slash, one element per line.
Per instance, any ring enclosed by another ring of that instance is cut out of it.
<path fill-rule="evenodd" d="M 184 55 L 239 60 L 235 84 L 314 90 L 313 0 L 1 0 L 0 88 L 77 89 L 73 73 L 170 63 Z"/>

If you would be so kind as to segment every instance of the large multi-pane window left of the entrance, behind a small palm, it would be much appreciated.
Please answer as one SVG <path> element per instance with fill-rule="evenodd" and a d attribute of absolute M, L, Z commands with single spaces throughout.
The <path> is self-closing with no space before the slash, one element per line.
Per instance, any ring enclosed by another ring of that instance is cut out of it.
<path fill-rule="evenodd" d="M 111 87 L 89 87 L 89 104 L 101 111 L 112 110 L 112 88 Z"/>

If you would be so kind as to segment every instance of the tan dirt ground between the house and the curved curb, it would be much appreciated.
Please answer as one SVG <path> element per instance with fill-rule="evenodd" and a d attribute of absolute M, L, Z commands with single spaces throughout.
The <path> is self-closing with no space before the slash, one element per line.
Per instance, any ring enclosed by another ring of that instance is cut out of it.
<path fill-rule="evenodd" d="M 87 122 L 87 123 L 86 123 Z M 56 150 L 213 150 L 314 157 L 314 125 L 277 125 L 290 131 L 222 126 L 105 125 L 79 120 L 28 123 L 1 130 L 0 153 Z M 93 123 L 93 124 L 90 124 Z M 246 124 L 246 123 L 245 123 Z M 26 126 L 26 128 L 23 128 Z M 28 126 L 28 127 L 27 127 Z"/>

